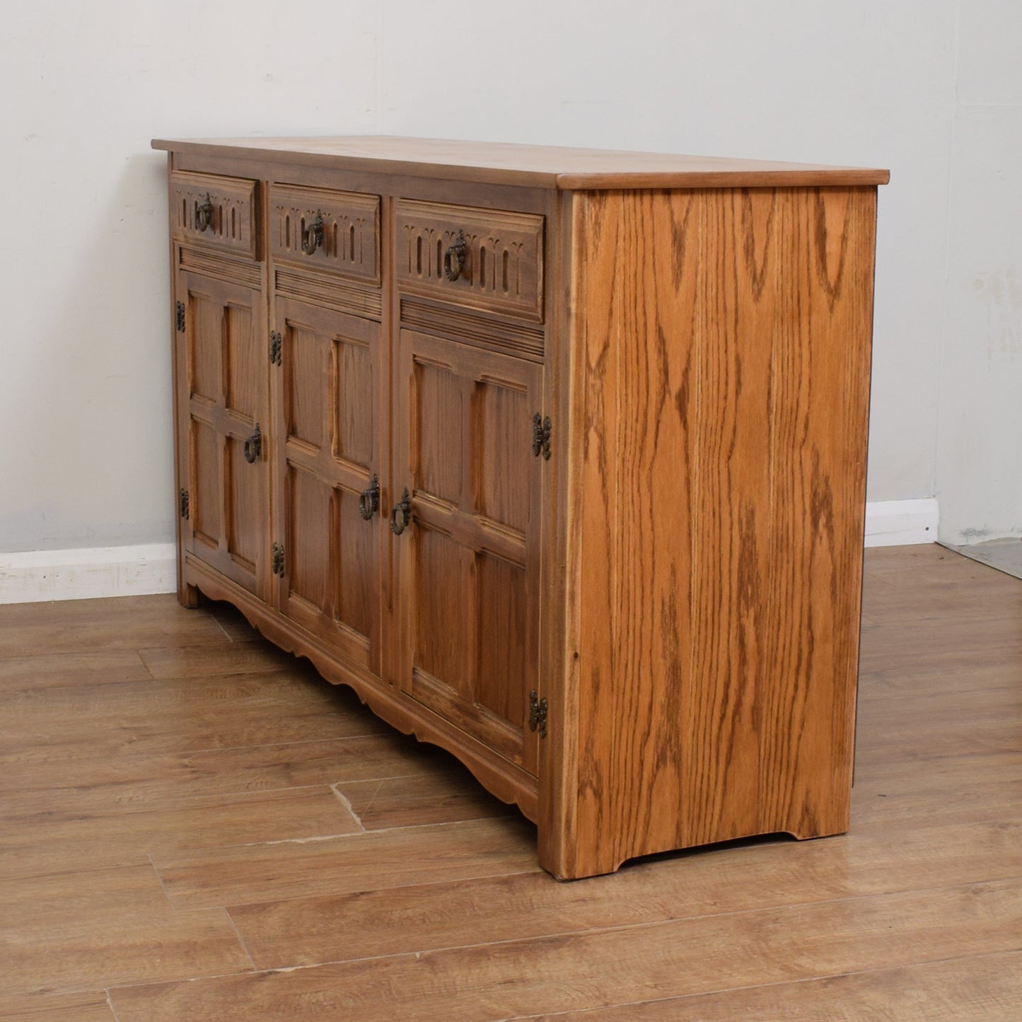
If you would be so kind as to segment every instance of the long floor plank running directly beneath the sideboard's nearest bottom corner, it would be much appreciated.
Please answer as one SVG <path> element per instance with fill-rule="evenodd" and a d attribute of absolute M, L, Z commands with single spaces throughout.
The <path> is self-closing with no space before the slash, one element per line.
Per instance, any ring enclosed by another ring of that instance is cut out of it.
<path fill-rule="evenodd" d="M 848 836 L 838 848 L 775 841 L 637 864 L 586 883 L 552 886 L 522 873 L 456 889 L 422 884 L 239 905 L 231 917 L 260 969 L 287 968 L 894 893 L 923 875 L 934 889 L 1008 878 L 1018 870 L 1019 836 L 1016 822 L 924 828 L 897 840 Z"/>

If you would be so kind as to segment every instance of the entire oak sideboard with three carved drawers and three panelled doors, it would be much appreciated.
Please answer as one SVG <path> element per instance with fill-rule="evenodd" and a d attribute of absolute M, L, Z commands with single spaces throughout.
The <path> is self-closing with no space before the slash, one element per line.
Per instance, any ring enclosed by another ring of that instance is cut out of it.
<path fill-rule="evenodd" d="M 886 172 L 153 146 L 184 604 L 449 749 L 557 877 L 847 829 Z"/>

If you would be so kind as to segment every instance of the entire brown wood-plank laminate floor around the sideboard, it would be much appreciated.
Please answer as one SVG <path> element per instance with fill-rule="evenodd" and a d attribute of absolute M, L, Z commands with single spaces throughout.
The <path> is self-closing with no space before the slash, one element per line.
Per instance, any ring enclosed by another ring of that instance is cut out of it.
<path fill-rule="evenodd" d="M 559 884 L 223 606 L 0 607 L 0 1018 L 1022 1019 L 1022 582 L 867 552 L 851 832 Z"/>

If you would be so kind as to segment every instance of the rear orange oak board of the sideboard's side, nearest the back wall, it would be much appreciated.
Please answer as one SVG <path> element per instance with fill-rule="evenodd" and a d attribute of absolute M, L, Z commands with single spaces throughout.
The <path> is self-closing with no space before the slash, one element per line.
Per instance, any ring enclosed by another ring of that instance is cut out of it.
<path fill-rule="evenodd" d="M 779 215 L 760 829 L 809 837 L 848 827 L 876 189 L 781 192 Z"/>

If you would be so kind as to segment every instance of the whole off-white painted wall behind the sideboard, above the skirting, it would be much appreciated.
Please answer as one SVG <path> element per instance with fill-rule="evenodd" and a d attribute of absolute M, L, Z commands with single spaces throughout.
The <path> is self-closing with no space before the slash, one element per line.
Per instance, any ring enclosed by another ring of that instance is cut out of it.
<path fill-rule="evenodd" d="M 932 497 L 939 465 L 954 529 L 1019 528 L 1018 7 L 16 5 L 0 34 L 0 552 L 173 537 L 154 135 L 383 132 L 889 167 L 870 499 Z"/>

